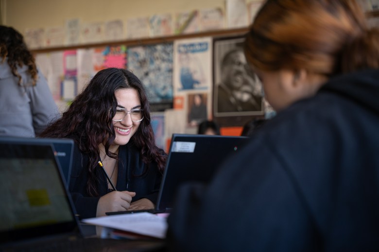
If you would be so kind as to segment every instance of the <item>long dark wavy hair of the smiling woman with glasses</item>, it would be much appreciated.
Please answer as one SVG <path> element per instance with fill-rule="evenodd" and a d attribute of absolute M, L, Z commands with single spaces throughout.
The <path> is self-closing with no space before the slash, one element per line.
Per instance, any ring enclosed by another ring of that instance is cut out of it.
<path fill-rule="evenodd" d="M 72 138 L 80 151 L 89 155 L 87 192 L 91 196 L 98 196 L 95 170 L 99 160 L 99 145 L 103 143 L 106 154 L 117 158 L 115 153 L 109 151 L 109 146 L 116 137 L 112 122 L 117 107 L 115 92 L 121 88 L 137 90 L 143 109 L 144 119 L 129 143 L 140 150 L 143 162 L 157 162 L 162 172 L 166 154 L 155 145 L 145 88 L 136 75 L 125 69 L 107 68 L 99 71 L 63 113 L 62 118 L 52 122 L 40 135 Z"/>

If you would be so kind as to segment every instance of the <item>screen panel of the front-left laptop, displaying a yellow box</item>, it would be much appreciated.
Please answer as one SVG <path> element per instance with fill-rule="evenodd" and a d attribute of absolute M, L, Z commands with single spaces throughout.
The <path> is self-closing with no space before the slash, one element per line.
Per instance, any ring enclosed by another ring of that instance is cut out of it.
<path fill-rule="evenodd" d="M 52 145 L 0 138 L 0 241 L 77 227 Z"/>

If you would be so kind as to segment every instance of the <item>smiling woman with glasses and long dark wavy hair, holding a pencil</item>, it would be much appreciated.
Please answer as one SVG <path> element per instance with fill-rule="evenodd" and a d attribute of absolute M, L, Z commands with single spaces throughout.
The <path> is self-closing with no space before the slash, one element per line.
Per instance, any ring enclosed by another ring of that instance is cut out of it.
<path fill-rule="evenodd" d="M 75 141 L 69 191 L 80 218 L 154 208 L 166 154 L 155 145 L 150 120 L 138 77 L 107 68 L 41 134 Z"/>

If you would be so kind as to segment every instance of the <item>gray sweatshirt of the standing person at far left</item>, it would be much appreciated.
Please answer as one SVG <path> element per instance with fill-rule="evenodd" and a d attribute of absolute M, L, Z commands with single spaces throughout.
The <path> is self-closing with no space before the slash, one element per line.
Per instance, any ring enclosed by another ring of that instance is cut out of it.
<path fill-rule="evenodd" d="M 7 59 L 1 61 L 0 58 L 0 135 L 38 136 L 59 116 L 47 81 L 38 71 L 37 83 L 32 86 L 27 67 L 17 67 L 22 77 L 22 86 L 19 86 Z"/>

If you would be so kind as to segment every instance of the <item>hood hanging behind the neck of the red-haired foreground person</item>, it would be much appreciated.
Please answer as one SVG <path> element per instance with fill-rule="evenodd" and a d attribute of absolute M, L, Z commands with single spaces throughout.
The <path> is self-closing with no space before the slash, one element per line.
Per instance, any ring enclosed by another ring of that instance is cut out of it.
<path fill-rule="evenodd" d="M 379 114 L 379 69 L 331 78 L 319 92 L 332 92 Z"/>

